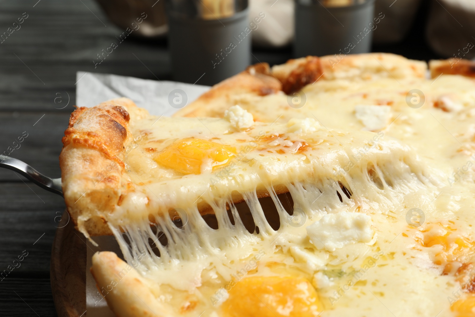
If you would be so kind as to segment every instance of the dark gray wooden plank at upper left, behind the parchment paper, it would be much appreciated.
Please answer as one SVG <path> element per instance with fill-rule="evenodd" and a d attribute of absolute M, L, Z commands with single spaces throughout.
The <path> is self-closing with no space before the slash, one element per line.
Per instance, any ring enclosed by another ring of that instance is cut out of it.
<path fill-rule="evenodd" d="M 56 111 L 69 99 L 68 108 L 57 111 L 71 112 L 78 70 L 171 78 L 163 40 L 151 45 L 133 38 L 132 33 L 120 42 L 116 37 L 123 30 L 107 19 L 95 1 L 82 2 L 43 0 L 35 8 L 2 3 L 0 34 L 23 12 L 28 11 L 28 18 L 0 44 L 0 110 Z M 97 55 L 113 42 L 118 47 L 95 67 L 93 60 L 101 61 Z"/>

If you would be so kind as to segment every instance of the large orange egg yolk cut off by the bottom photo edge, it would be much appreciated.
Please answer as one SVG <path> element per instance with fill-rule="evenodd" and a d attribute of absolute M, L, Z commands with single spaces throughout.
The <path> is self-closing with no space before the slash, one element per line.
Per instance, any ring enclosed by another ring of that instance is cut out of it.
<path fill-rule="evenodd" d="M 222 304 L 228 317 L 316 317 L 323 310 L 315 288 L 302 278 L 245 278 L 228 295 Z"/>

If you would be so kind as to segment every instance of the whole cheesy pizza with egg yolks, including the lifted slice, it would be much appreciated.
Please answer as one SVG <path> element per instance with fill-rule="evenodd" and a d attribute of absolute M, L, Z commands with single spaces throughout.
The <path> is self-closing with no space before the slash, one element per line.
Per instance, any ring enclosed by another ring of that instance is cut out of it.
<path fill-rule="evenodd" d="M 79 231 L 119 242 L 123 259 L 91 268 L 109 307 L 475 316 L 475 82 L 444 63 L 428 79 L 390 54 L 307 57 L 249 67 L 174 117 L 77 108 L 63 192 Z"/>

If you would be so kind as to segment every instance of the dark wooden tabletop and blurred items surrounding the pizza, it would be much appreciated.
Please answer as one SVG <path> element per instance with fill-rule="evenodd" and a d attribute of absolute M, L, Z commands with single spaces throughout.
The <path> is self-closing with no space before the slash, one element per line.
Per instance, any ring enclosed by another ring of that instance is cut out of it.
<path fill-rule="evenodd" d="M 213 85 L 307 54 L 474 58 L 474 37 L 474 0 L 3 0 L 0 150 L 27 135 L 10 155 L 60 177 L 77 71 Z M 28 253 L 0 278 L 0 316 L 56 316 L 64 201 L 0 169 L 0 202 L 0 270 Z"/>

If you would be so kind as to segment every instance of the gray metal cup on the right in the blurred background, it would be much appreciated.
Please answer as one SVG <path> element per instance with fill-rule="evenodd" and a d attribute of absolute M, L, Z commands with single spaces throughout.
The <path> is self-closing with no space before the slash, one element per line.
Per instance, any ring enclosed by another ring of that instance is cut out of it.
<path fill-rule="evenodd" d="M 297 0 L 295 57 L 369 53 L 375 29 L 371 26 L 375 24 L 374 1 L 324 7 L 319 0 L 312 3 Z"/>

